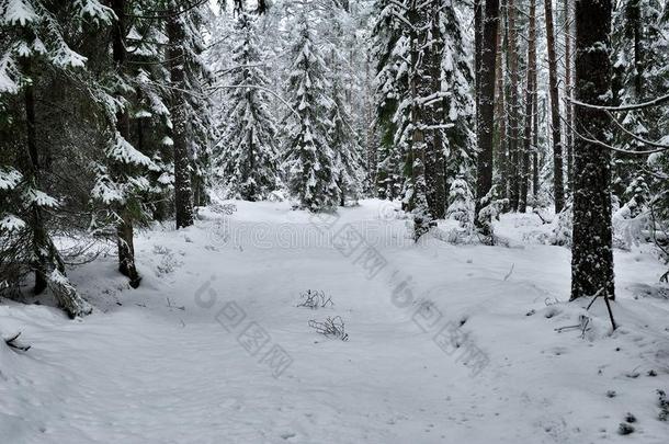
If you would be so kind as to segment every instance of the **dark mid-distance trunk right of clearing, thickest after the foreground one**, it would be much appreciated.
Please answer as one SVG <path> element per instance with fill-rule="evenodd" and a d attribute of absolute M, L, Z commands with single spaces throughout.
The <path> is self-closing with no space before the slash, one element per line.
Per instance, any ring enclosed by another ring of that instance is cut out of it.
<path fill-rule="evenodd" d="M 495 119 L 495 49 L 499 23 L 499 0 L 486 0 L 486 11 L 480 57 L 479 82 L 477 92 L 478 111 L 476 138 L 478 158 L 476 164 L 476 213 L 475 223 L 484 236 L 491 235 L 489 226 L 479 218 L 481 208 L 489 204 L 485 197 L 492 187 L 492 129 Z"/>

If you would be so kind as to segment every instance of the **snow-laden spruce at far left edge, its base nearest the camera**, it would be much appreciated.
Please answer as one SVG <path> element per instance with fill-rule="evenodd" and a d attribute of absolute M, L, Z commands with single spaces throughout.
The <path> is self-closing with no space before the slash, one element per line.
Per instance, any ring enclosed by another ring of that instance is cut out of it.
<path fill-rule="evenodd" d="M 37 94 L 45 75 L 83 76 L 87 58 L 71 48 L 80 37 L 77 32 L 91 24 L 109 25 L 114 14 L 97 0 L 5 0 L 0 13 L 0 42 L 7 48 L 0 56 L 0 275 L 10 281 L 1 286 L 16 288 L 34 272 L 36 294 L 48 286 L 70 316 L 87 315 L 91 306 L 67 280 L 49 230 L 49 212 L 63 200 L 50 195 L 46 180 L 49 166 L 39 140 Z M 73 16 L 76 26 L 63 26 L 63 16 Z"/>

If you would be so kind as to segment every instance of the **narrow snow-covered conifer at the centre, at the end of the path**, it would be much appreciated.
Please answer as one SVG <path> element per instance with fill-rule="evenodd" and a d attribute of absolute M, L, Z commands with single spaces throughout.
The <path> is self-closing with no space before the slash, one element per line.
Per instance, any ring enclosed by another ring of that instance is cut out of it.
<path fill-rule="evenodd" d="M 334 152 L 328 144 L 332 123 L 327 119 L 332 103 L 328 99 L 327 68 L 309 20 L 299 14 L 291 49 L 290 104 L 295 115 L 288 128 L 288 187 L 299 206 L 311 212 L 332 208 L 339 203 Z"/>

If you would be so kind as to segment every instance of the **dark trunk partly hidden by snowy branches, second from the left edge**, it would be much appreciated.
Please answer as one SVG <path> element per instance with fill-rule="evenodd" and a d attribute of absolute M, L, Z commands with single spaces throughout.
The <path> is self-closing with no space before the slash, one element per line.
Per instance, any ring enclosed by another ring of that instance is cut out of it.
<path fill-rule="evenodd" d="M 125 0 L 112 0 L 112 9 L 118 18 L 112 31 L 112 57 L 116 65 L 116 69 L 121 72 L 125 69 L 127 58 L 125 43 L 123 42 L 126 31 L 125 5 Z M 117 94 L 123 95 L 122 92 L 118 92 Z M 129 140 L 129 115 L 125 107 L 116 113 L 116 130 L 121 134 L 121 137 Z M 133 288 L 137 288 L 141 277 L 139 277 L 137 266 L 135 265 L 133 215 L 126 204 L 118 205 L 116 213 L 121 217 L 121 221 L 116 227 L 118 271 L 129 278 Z"/>

